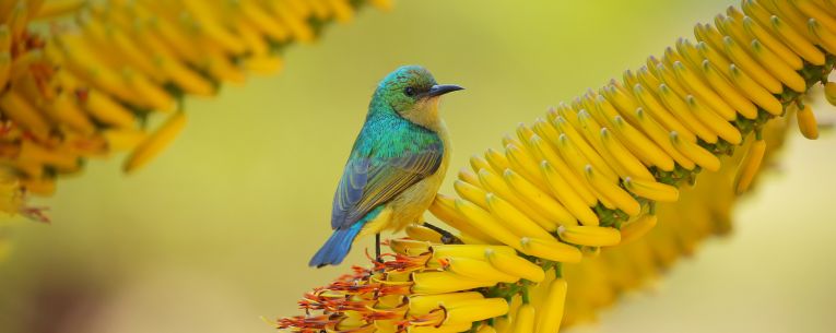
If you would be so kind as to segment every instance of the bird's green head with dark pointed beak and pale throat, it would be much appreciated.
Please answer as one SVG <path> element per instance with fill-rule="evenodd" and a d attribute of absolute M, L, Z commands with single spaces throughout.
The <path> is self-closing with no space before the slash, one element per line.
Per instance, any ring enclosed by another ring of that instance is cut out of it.
<path fill-rule="evenodd" d="M 438 123 L 439 97 L 460 90 L 455 84 L 437 84 L 423 67 L 404 66 L 380 81 L 372 103 L 389 106 L 407 120 L 432 129 Z"/>

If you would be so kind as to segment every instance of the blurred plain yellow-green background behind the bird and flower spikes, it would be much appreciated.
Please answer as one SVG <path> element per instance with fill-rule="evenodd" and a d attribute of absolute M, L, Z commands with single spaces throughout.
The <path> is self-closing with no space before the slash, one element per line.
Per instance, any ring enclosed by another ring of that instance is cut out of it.
<path fill-rule="evenodd" d="M 337 181 L 389 71 L 423 64 L 467 87 L 443 106 L 455 174 L 517 122 L 620 78 L 730 4 L 413 0 L 365 10 L 289 49 L 281 74 L 189 99 L 181 136 L 136 175 L 123 176 L 119 158 L 90 160 L 39 200 L 52 224 L 16 221 L 8 235 L 0 332 L 272 332 L 260 316 L 297 314 L 304 292 L 348 270 L 307 261 L 331 231 Z M 814 110 L 836 116 L 826 104 Z M 777 171 L 741 200 L 730 237 L 572 332 L 832 332 L 834 146 L 833 133 L 806 141 L 793 131 Z M 365 263 L 364 246 L 346 263 Z"/>

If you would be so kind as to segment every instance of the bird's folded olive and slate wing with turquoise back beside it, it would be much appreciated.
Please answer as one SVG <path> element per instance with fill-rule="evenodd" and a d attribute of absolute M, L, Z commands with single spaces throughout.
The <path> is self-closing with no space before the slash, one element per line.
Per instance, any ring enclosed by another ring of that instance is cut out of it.
<path fill-rule="evenodd" d="M 333 198 L 331 228 L 351 226 L 376 206 L 388 202 L 419 180 L 438 170 L 444 145 L 434 140 L 393 156 L 355 156 L 345 165 Z"/>

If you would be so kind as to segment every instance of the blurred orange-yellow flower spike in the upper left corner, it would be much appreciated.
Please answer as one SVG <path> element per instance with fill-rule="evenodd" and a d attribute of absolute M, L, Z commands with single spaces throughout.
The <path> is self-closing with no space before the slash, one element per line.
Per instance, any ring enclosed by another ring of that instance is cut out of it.
<path fill-rule="evenodd" d="M 362 2 L 0 1 L 0 168 L 17 180 L 14 198 L 48 195 L 57 176 L 111 152 L 131 151 L 125 170 L 137 169 L 185 126 L 184 96 L 278 71 L 282 48 Z M 157 112 L 169 119 L 149 130 Z"/>

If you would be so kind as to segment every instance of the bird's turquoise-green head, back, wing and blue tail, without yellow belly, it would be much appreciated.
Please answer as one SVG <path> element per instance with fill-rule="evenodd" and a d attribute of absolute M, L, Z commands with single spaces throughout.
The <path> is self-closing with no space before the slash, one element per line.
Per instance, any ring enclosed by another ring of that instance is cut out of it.
<path fill-rule="evenodd" d="M 437 85 L 428 71 L 414 66 L 399 68 L 380 82 L 334 193 L 334 234 L 311 266 L 342 262 L 362 227 L 388 202 L 438 171 L 443 140 L 419 122 L 425 117 L 421 112 L 429 110 L 428 100 L 456 90 L 460 87 Z"/>

